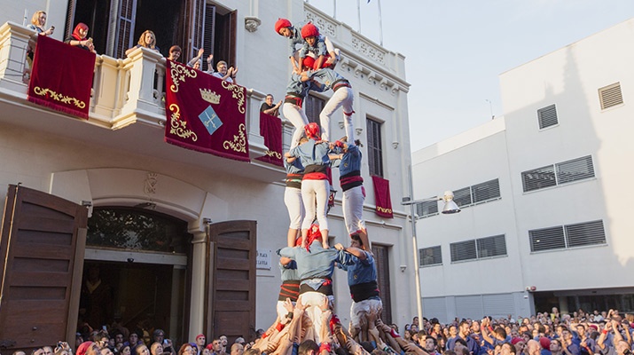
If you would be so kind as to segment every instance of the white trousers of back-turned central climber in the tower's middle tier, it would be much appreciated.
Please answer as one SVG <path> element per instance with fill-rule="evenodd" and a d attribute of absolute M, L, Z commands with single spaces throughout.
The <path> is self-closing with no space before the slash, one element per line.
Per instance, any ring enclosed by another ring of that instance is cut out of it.
<path fill-rule="evenodd" d="M 328 220 L 325 217 L 325 209 L 328 207 L 328 195 L 330 184 L 328 180 L 301 180 L 301 201 L 304 202 L 306 216 L 301 224 L 301 229 L 309 229 L 317 214 L 319 229 L 328 230 Z M 317 202 L 317 209 L 315 204 Z"/>

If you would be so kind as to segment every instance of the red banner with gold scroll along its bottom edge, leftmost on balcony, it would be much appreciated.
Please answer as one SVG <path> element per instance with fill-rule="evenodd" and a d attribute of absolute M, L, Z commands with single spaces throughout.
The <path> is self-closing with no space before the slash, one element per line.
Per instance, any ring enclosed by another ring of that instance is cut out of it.
<path fill-rule="evenodd" d="M 88 119 L 95 53 L 37 36 L 27 99 Z"/>

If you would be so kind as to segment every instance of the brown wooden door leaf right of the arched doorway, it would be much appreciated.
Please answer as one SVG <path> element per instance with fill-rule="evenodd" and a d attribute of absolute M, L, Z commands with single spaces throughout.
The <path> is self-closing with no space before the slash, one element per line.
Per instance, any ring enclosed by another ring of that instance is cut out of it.
<path fill-rule="evenodd" d="M 207 336 L 227 335 L 230 343 L 255 336 L 255 231 L 255 221 L 209 226 Z"/>

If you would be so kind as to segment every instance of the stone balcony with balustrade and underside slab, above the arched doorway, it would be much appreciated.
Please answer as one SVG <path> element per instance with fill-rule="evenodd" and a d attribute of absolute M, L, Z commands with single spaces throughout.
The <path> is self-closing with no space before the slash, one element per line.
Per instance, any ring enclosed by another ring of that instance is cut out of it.
<path fill-rule="evenodd" d="M 247 88 L 247 133 L 252 161 L 237 162 L 194 152 L 164 142 L 166 124 L 163 88 L 166 60 L 139 48 L 129 58 L 98 55 L 87 121 L 27 101 L 26 53 L 35 32 L 13 22 L 0 27 L 0 122 L 28 130 L 90 142 L 116 150 L 160 157 L 213 171 L 265 182 L 281 181 L 286 172 L 254 160 L 268 150 L 260 135 L 260 105 L 265 94 Z M 289 146 L 293 125 L 283 121 L 283 146 Z"/>

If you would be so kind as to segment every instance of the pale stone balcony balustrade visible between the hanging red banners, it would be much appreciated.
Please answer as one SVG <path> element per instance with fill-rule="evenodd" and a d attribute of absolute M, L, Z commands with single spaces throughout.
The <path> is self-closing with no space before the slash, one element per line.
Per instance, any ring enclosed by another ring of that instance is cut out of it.
<path fill-rule="evenodd" d="M 17 23 L 6 22 L 0 27 L 0 96 L 13 103 L 27 106 L 28 43 L 37 38 L 34 31 Z M 155 51 L 138 48 L 126 59 L 98 55 L 90 99 L 89 120 L 86 124 L 106 130 L 122 130 L 141 123 L 153 127 L 162 135 L 166 123 L 164 86 L 166 59 Z M 260 106 L 265 94 L 247 88 L 247 132 L 250 165 L 282 173 L 282 169 L 254 158 L 268 150 L 260 135 Z M 69 120 L 76 120 L 68 116 Z M 291 139 L 292 125 L 284 122 L 283 146 Z M 152 133 L 154 134 L 154 133 Z M 275 178 L 280 176 L 274 174 Z"/>

